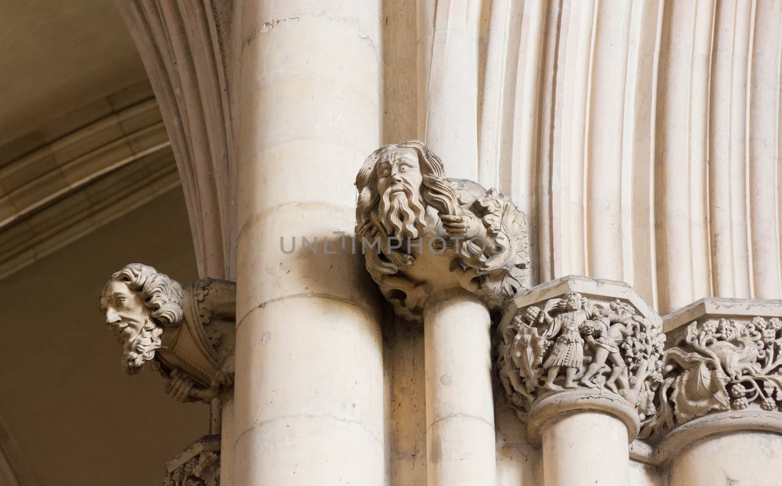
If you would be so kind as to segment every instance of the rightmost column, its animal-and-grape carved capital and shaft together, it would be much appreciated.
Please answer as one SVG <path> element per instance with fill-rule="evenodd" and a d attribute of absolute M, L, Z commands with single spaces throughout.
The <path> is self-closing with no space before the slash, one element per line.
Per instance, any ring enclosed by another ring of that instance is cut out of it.
<path fill-rule="evenodd" d="M 705 298 L 665 317 L 657 442 L 671 486 L 778 484 L 782 302 Z"/>

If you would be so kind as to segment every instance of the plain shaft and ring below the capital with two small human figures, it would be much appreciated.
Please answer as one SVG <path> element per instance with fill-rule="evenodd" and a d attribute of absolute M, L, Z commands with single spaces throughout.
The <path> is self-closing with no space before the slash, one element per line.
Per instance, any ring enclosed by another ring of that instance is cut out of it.
<path fill-rule="evenodd" d="M 630 484 L 629 444 L 638 433 L 636 411 L 599 391 L 561 391 L 530 410 L 527 430 L 543 445 L 546 486 Z"/>

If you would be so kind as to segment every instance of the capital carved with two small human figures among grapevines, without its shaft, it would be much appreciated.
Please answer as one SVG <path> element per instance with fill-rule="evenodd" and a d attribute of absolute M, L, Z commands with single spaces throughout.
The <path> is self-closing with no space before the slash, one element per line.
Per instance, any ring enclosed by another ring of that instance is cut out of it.
<path fill-rule="evenodd" d="M 510 310 L 497 368 L 522 420 L 544 398 L 578 388 L 624 399 L 642 422 L 655 413 L 665 335 L 632 288 L 564 277 L 519 295 Z"/>

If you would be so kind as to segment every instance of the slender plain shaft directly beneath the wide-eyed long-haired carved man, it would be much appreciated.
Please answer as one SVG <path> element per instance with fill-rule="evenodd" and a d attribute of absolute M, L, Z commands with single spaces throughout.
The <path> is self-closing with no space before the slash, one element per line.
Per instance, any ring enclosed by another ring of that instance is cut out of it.
<path fill-rule="evenodd" d="M 427 486 L 494 484 L 489 310 L 466 291 L 424 309 Z"/>

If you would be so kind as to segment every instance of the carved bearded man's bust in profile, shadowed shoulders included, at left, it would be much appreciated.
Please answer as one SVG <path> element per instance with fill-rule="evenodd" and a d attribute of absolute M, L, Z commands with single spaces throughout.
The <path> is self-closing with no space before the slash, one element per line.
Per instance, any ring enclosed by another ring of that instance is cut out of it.
<path fill-rule="evenodd" d="M 106 325 L 123 345 L 128 374 L 150 363 L 180 402 L 209 402 L 233 383 L 236 284 L 210 278 L 181 285 L 131 263 L 101 295 Z"/>

